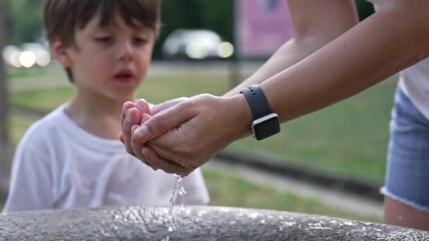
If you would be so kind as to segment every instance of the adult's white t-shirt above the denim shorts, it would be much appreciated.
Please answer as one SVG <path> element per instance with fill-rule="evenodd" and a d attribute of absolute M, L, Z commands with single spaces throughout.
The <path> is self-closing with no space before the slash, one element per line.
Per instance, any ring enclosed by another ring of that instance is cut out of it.
<path fill-rule="evenodd" d="M 383 1 L 367 0 L 376 10 Z M 429 119 L 429 58 L 423 59 L 399 73 L 399 87 L 411 99 L 416 108 Z"/>

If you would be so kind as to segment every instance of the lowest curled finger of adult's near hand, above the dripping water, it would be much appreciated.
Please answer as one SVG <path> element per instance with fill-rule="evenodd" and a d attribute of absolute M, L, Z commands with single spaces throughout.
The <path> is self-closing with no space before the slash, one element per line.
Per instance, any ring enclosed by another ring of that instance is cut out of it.
<path fill-rule="evenodd" d="M 150 163 L 152 163 L 155 169 L 159 168 L 166 173 L 176 173 L 183 176 L 188 175 L 188 173 L 192 172 L 192 170 L 190 170 L 189 168 L 180 166 L 179 164 L 176 164 L 167 159 L 163 159 L 162 157 L 158 156 L 153 149 L 150 149 L 148 147 L 143 147 L 142 153 L 146 157 L 146 159 L 149 160 Z"/>

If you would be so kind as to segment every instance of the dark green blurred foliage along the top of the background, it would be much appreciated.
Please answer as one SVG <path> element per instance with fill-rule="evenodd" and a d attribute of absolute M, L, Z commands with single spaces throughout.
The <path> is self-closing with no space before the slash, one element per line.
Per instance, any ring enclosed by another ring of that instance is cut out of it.
<path fill-rule="evenodd" d="M 35 42 L 42 35 L 41 0 L 6 0 L 8 4 L 8 44 Z M 361 20 L 373 13 L 372 4 L 356 0 Z M 162 33 L 154 49 L 154 57 L 161 56 L 161 43 L 177 28 L 207 28 L 226 41 L 234 42 L 234 1 L 164 0 Z"/>

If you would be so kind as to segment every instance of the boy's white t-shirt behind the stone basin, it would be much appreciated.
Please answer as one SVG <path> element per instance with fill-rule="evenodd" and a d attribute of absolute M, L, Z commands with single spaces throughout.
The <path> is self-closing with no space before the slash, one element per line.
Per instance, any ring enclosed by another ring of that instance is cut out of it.
<path fill-rule="evenodd" d="M 105 205 L 167 206 L 176 177 L 153 171 L 128 154 L 119 140 L 86 132 L 62 105 L 34 123 L 13 159 L 4 212 Z M 198 168 L 183 178 L 177 203 L 207 204 Z"/>

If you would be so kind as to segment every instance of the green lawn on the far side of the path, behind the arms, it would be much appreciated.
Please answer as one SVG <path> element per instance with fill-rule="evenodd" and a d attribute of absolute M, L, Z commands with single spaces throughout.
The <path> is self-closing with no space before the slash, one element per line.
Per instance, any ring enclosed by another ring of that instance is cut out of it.
<path fill-rule="evenodd" d="M 49 73 L 45 78 L 49 78 Z M 385 80 L 339 104 L 282 124 L 279 135 L 261 142 L 248 137 L 228 149 L 281 157 L 311 168 L 381 182 L 385 175 L 389 112 L 395 87 L 394 78 Z M 138 97 L 159 103 L 200 93 L 221 95 L 228 88 L 228 75 L 174 75 L 147 78 L 138 90 Z M 50 111 L 73 93 L 72 86 L 19 92 L 12 94 L 12 102 L 16 106 Z"/>

